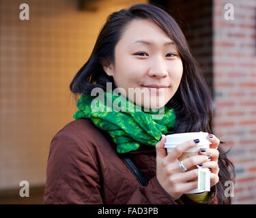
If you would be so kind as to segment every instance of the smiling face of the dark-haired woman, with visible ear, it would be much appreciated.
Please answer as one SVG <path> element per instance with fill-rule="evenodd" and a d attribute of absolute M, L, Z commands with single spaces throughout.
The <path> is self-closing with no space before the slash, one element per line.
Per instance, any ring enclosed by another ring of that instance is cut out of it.
<path fill-rule="evenodd" d="M 115 46 L 115 64 L 104 66 L 131 102 L 158 109 L 173 97 L 182 78 L 175 44 L 152 20 L 132 20 Z M 131 94 L 131 95 L 130 95 Z"/>

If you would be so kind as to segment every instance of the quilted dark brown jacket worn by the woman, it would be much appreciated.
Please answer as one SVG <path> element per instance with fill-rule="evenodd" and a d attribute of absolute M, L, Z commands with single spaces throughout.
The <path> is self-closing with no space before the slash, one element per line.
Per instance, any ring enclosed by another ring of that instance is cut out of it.
<path fill-rule="evenodd" d="M 127 155 L 149 179 L 146 187 L 90 120 L 68 123 L 51 141 L 44 204 L 177 204 L 156 179 L 154 147 L 142 146 Z M 217 204 L 216 186 L 212 190 L 212 199 L 203 204 Z M 182 200 L 199 204 L 185 195 Z"/>

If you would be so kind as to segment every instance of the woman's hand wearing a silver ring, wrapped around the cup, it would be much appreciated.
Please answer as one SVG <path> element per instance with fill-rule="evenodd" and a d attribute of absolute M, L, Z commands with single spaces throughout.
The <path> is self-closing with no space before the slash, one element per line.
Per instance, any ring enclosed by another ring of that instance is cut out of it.
<path fill-rule="evenodd" d="M 156 144 L 156 178 L 171 198 L 177 200 L 185 192 L 197 188 L 198 169 L 184 172 L 180 168 L 177 159 L 186 150 L 197 146 L 197 143 L 194 140 L 188 140 L 177 145 L 167 155 L 165 140 L 165 135 L 162 135 L 161 140 Z M 189 169 L 199 163 L 206 164 L 209 161 L 210 159 L 207 155 L 195 155 L 184 159 L 182 162 L 185 168 Z"/>

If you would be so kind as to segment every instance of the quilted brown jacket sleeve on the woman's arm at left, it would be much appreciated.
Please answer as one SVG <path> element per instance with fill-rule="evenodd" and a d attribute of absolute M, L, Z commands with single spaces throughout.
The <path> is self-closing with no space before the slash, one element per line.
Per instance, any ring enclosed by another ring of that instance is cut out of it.
<path fill-rule="evenodd" d="M 68 131 L 51 141 L 44 204 L 102 204 L 100 176 L 87 147 Z"/>

